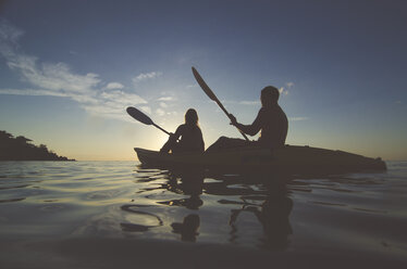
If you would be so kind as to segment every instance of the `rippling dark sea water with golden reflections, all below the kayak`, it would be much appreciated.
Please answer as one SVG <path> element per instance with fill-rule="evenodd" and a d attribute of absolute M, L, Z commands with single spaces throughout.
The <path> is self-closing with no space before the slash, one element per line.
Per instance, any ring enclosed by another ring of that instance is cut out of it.
<path fill-rule="evenodd" d="M 0 162 L 0 268 L 407 268 L 407 162 L 323 177 Z"/>

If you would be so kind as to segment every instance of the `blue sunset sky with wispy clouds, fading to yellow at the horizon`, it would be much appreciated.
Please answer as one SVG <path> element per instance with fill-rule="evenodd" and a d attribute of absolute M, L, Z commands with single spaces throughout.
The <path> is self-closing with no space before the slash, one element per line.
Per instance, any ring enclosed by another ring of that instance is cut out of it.
<path fill-rule="evenodd" d="M 0 130 L 78 161 L 136 159 L 187 108 L 206 146 L 280 89 L 286 143 L 407 159 L 407 1 L 0 1 Z M 256 139 L 254 137 L 252 139 Z"/>

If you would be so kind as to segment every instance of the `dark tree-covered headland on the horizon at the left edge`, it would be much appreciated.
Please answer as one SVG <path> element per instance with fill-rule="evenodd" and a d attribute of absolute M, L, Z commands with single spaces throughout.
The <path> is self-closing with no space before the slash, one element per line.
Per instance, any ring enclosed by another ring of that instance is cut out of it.
<path fill-rule="evenodd" d="M 0 161 L 75 161 L 58 156 L 47 145 L 29 143 L 30 139 L 23 136 L 14 138 L 11 133 L 0 130 Z"/>

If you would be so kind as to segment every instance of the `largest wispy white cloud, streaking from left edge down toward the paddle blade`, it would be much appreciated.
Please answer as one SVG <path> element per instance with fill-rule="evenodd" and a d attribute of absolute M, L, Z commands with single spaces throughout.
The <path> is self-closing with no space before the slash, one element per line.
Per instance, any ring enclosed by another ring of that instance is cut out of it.
<path fill-rule="evenodd" d="M 151 111 L 146 100 L 136 93 L 123 91 L 125 87 L 120 82 L 102 87 L 102 79 L 98 74 L 76 74 L 65 63 L 46 63 L 20 52 L 18 38 L 22 35 L 22 30 L 0 21 L 0 55 L 10 69 L 17 73 L 30 87 L 0 89 L 0 94 L 70 98 L 90 114 L 123 120 L 127 120 L 124 113 L 126 106 L 144 104 L 144 111 Z M 144 74 L 139 79 L 155 76 L 158 74 Z"/>

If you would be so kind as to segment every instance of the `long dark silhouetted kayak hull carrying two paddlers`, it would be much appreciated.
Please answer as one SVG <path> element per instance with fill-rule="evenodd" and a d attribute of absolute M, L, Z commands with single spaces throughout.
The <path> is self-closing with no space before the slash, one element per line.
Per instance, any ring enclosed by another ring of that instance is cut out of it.
<path fill-rule="evenodd" d="M 285 145 L 274 150 L 237 148 L 178 154 L 160 153 L 140 148 L 134 150 L 143 165 L 158 168 L 201 166 L 209 169 L 236 171 L 269 170 L 316 174 L 386 170 L 386 165 L 381 158 L 307 145 Z"/>

